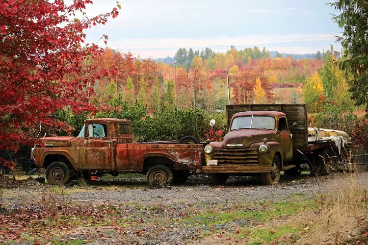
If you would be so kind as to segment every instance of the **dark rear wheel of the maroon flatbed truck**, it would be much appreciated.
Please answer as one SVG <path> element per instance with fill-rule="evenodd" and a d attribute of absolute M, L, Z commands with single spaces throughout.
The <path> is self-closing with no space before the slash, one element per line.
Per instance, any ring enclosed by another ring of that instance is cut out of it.
<path fill-rule="evenodd" d="M 331 147 L 326 147 L 317 153 L 315 173 L 329 175 L 331 172 L 338 172 L 340 163 L 339 153 Z"/>

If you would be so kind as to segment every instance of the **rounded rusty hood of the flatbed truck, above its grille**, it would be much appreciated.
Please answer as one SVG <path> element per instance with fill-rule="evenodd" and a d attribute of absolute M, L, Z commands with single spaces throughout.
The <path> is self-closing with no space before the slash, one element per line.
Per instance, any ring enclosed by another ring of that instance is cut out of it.
<path fill-rule="evenodd" d="M 256 142 L 263 142 L 266 138 L 267 141 L 275 140 L 275 132 L 268 129 L 238 129 L 227 133 L 222 142 L 222 147 L 246 147 Z M 242 145 L 242 146 L 241 146 Z"/>

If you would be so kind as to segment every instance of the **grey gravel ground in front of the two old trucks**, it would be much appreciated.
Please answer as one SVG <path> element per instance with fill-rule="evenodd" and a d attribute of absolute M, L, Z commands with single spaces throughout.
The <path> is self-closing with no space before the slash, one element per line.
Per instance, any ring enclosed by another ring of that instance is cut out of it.
<path fill-rule="evenodd" d="M 320 194 L 338 191 L 339 188 L 350 186 L 354 181 L 356 185 L 368 187 L 368 172 L 352 175 L 333 173 L 329 176 L 315 177 L 310 174 L 302 174 L 296 177 L 282 175 L 280 184 L 262 186 L 256 177 L 231 176 L 224 186 L 210 186 L 207 178 L 193 175 L 185 185 L 167 186 L 163 188 L 151 188 L 142 175 L 90 182 L 88 188 L 81 189 L 72 186 L 64 187 L 67 194 L 65 201 L 75 203 L 105 203 L 124 207 L 126 216 L 142 219 L 142 225 L 134 226 L 134 229 L 119 233 L 114 227 L 90 227 L 83 228 L 83 232 L 75 231 L 73 234 L 60 241 L 88 240 L 93 244 L 185 244 L 185 243 L 243 243 L 240 240 L 224 241 L 222 239 L 209 239 L 201 234 L 212 230 L 223 230 L 224 233 L 235 233 L 237 227 L 247 225 L 249 220 L 236 220 L 228 223 L 219 223 L 212 227 L 183 226 L 176 222 L 179 214 L 195 212 L 195 209 L 214 209 L 219 206 L 230 209 L 238 203 L 250 203 L 252 208 L 259 208 L 260 203 L 275 202 L 281 200 L 293 200 L 313 198 Z M 42 195 L 45 195 L 50 187 L 34 180 L 27 180 L 28 185 L 18 188 L 10 188 L 1 196 L 3 206 L 17 206 L 29 203 L 40 203 Z M 22 183 L 24 183 L 23 181 Z M 77 185 L 77 184 L 76 184 Z M 72 190 L 72 191 L 71 191 Z M 154 207 L 154 208 L 153 208 Z M 167 216 L 172 221 L 165 227 L 147 224 L 155 217 Z M 200 222 L 200 221 L 199 221 Z M 139 222 L 137 222 L 139 223 Z M 87 236 L 86 234 L 89 234 Z M 101 236 L 101 234 L 104 234 Z"/>

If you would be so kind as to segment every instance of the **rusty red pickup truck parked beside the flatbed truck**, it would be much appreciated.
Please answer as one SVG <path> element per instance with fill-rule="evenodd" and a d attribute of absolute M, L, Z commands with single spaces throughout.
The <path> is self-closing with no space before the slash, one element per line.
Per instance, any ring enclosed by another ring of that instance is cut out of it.
<path fill-rule="evenodd" d="M 119 172 L 147 174 L 150 183 L 184 183 L 189 172 L 200 169 L 204 161 L 202 144 L 135 143 L 129 120 L 102 118 L 84 123 L 78 137 L 36 140 L 31 159 L 37 168 L 46 170 L 48 183 Z"/>

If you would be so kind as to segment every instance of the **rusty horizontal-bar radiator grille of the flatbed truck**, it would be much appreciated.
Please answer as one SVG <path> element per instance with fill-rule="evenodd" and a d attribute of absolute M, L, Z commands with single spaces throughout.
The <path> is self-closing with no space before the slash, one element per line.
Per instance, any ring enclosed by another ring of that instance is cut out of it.
<path fill-rule="evenodd" d="M 247 164 L 258 165 L 257 149 L 237 148 L 216 150 L 214 159 L 217 159 L 218 164 Z"/>

